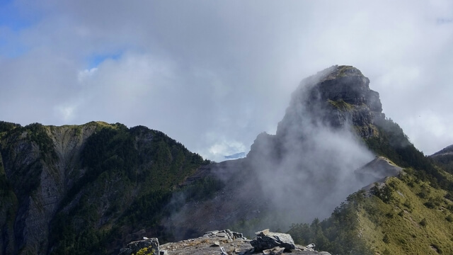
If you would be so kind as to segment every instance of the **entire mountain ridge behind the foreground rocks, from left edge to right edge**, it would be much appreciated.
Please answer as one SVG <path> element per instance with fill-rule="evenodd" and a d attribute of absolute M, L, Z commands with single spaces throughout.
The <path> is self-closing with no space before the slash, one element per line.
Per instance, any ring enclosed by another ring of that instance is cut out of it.
<path fill-rule="evenodd" d="M 276 134 L 227 162 L 143 126 L 0 122 L 0 254 L 113 254 L 227 228 L 282 229 L 332 254 L 445 254 L 453 159 L 436 160 L 350 66 L 304 79 Z"/>

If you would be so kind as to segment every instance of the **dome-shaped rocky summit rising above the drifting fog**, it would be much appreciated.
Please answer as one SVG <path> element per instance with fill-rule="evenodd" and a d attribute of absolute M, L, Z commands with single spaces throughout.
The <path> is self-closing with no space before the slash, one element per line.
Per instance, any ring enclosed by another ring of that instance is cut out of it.
<path fill-rule="evenodd" d="M 383 119 L 379 93 L 359 69 L 335 65 L 303 79 L 292 94 L 277 135 L 300 130 L 307 123 L 343 127 L 350 123 L 362 137 L 377 135 L 372 125 Z"/>

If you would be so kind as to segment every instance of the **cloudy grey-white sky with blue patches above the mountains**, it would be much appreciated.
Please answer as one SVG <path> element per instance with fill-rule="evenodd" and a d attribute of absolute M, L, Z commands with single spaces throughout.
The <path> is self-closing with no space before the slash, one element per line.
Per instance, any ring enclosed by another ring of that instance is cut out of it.
<path fill-rule="evenodd" d="M 453 1 L 0 1 L 0 120 L 161 130 L 207 159 L 357 67 L 415 147 L 453 144 Z"/>

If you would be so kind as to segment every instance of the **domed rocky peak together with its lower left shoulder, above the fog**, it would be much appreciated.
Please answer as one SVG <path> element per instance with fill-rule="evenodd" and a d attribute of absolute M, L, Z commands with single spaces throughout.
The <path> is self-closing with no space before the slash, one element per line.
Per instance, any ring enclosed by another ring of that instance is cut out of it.
<path fill-rule="evenodd" d="M 369 79 L 359 69 L 329 67 L 302 80 L 276 135 L 258 135 L 248 157 L 279 158 L 294 150 L 294 146 L 288 147 L 292 141 L 302 143 L 319 128 L 347 128 L 365 140 L 378 137 L 375 124 L 384 119 L 379 93 L 369 89 Z"/>

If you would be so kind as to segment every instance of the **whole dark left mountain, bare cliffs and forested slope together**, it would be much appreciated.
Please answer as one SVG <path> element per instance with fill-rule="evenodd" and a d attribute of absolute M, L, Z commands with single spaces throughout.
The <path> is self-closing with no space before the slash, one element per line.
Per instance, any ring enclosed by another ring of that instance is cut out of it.
<path fill-rule="evenodd" d="M 120 124 L 1 123 L 0 139 L 0 254 L 103 252 L 100 242 L 115 247 L 109 234 L 130 241 L 123 233 L 147 226 L 128 223 L 139 217 L 130 207 L 155 207 L 153 217 L 203 162 L 161 132 Z M 139 202 L 153 194 L 155 204 Z"/>

